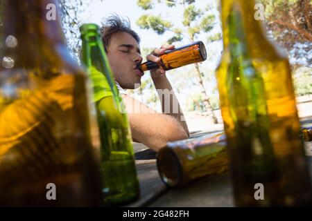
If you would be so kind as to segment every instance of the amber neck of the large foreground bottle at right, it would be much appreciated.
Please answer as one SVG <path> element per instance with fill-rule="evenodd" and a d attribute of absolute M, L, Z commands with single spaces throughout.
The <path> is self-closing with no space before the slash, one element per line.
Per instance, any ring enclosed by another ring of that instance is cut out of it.
<path fill-rule="evenodd" d="M 241 30 L 236 31 L 236 36 L 239 40 L 245 41 L 246 44 L 252 45 L 252 41 L 263 41 L 265 35 L 263 33 L 263 27 L 260 20 L 255 19 L 254 0 L 221 0 L 222 4 L 222 29 L 223 29 L 223 47 L 227 48 L 230 43 L 231 28 L 236 28 L 236 23 L 239 22 Z M 233 14 L 236 17 L 240 17 L 240 21 L 234 19 Z M 232 36 L 233 37 L 233 36 Z"/>

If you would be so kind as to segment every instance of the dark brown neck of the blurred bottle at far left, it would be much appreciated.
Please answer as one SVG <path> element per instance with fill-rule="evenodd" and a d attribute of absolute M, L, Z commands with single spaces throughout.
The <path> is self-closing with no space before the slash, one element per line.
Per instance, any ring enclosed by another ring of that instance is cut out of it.
<path fill-rule="evenodd" d="M 57 46 L 65 48 L 57 1 L 6 0 L 3 12 L 3 57 L 12 58 L 15 66 L 53 63 L 64 53 L 57 52 Z"/>

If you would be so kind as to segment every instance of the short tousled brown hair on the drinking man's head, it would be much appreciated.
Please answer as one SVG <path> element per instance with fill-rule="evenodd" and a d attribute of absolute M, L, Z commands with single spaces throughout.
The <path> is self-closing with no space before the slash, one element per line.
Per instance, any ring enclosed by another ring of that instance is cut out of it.
<path fill-rule="evenodd" d="M 107 52 L 107 46 L 110 44 L 110 38 L 116 32 L 126 32 L 135 38 L 137 44 L 140 43 L 140 37 L 137 33 L 131 29 L 130 21 L 126 19 L 121 19 L 118 15 L 112 15 L 105 19 L 102 23 L 101 28 L 101 39 L 103 41 L 104 49 Z"/>

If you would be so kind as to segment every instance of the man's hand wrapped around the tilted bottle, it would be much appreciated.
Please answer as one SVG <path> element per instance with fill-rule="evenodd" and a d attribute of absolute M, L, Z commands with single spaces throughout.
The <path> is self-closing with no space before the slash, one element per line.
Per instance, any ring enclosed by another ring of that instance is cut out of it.
<path fill-rule="evenodd" d="M 164 52 L 166 52 L 166 50 L 173 50 L 174 48 L 175 48 L 175 46 L 172 44 L 162 45 L 162 47 L 156 48 L 155 50 L 153 50 L 153 52 L 150 53 L 150 55 L 147 55 L 146 59 L 148 61 L 153 61 L 153 62 L 156 62 L 157 64 L 159 64 L 159 62 L 160 62 L 159 56 L 164 55 Z M 161 77 L 161 76 L 164 76 L 165 73 L 166 73 L 166 70 L 164 70 L 164 68 L 157 68 L 154 70 L 150 70 L 150 77 L 152 77 L 152 78 Z"/>

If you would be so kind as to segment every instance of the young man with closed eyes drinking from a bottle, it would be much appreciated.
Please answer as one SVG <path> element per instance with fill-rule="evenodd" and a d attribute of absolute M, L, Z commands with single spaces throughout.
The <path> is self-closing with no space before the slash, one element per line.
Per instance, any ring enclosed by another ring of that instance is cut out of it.
<path fill-rule="evenodd" d="M 163 113 L 156 113 L 145 104 L 127 95 L 124 90 L 134 89 L 136 85 L 140 85 L 141 77 L 144 75 L 137 69 L 137 64 L 141 64 L 143 60 L 139 47 L 140 39 L 137 33 L 130 29 L 130 23 L 118 16 L 107 18 L 101 28 L 101 38 L 116 85 L 125 102 L 132 139 L 155 151 L 165 146 L 167 142 L 187 139 L 189 130 L 164 69 L 150 70 L 150 77 L 162 100 Z M 173 48 L 173 45 L 164 45 L 153 50 L 146 59 L 159 62 L 157 56 Z M 166 95 L 162 91 L 169 91 L 171 99 L 163 99 Z"/>

